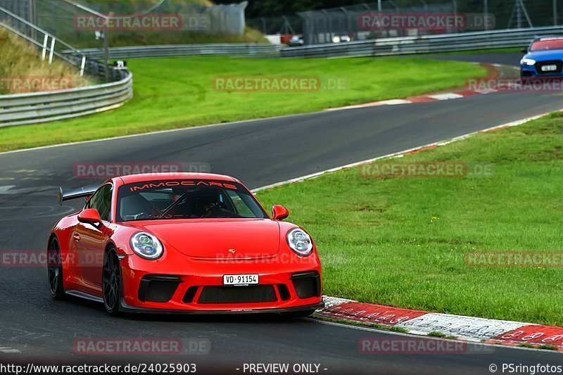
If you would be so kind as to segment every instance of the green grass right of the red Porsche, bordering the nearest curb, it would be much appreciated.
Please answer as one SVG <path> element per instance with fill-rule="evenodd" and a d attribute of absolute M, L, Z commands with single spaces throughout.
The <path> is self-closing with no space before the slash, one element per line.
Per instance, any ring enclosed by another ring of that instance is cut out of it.
<path fill-rule="evenodd" d="M 563 326 L 563 269 L 467 267 L 468 251 L 561 251 L 563 118 L 480 134 L 406 161 L 493 163 L 488 178 L 374 179 L 357 168 L 262 191 L 308 229 L 324 293 Z"/>

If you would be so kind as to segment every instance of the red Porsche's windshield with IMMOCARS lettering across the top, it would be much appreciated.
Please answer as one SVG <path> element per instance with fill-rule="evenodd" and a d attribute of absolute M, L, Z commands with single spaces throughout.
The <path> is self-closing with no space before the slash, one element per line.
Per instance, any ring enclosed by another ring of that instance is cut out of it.
<path fill-rule="evenodd" d="M 220 181 L 153 181 L 121 186 L 118 222 L 267 215 L 241 184 Z"/>

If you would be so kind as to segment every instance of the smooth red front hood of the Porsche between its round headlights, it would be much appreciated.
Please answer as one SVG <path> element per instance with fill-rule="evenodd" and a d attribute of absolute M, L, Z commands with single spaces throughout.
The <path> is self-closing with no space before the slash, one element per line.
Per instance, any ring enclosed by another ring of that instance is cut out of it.
<path fill-rule="evenodd" d="M 279 251 L 279 224 L 272 220 L 159 220 L 137 227 L 193 258 L 267 258 Z"/>

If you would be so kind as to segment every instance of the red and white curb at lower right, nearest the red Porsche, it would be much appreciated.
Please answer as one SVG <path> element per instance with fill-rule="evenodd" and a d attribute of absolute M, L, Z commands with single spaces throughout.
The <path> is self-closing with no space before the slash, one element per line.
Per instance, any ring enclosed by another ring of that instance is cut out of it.
<path fill-rule="evenodd" d="M 440 332 L 463 341 L 502 345 L 550 345 L 563 351 L 563 328 L 524 322 L 464 317 L 419 310 L 401 309 L 344 298 L 324 296 L 325 307 L 319 317 L 400 327 L 415 335 Z"/>

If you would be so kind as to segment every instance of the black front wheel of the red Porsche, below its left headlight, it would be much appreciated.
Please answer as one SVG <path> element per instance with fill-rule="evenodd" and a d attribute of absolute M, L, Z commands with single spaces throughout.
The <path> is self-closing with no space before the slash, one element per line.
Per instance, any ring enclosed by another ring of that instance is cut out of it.
<path fill-rule="evenodd" d="M 109 248 L 103 257 L 103 270 L 101 277 L 101 289 L 103 295 L 103 306 L 106 312 L 113 317 L 120 313 L 120 299 L 122 293 L 121 266 L 118 252 L 115 248 Z"/>

